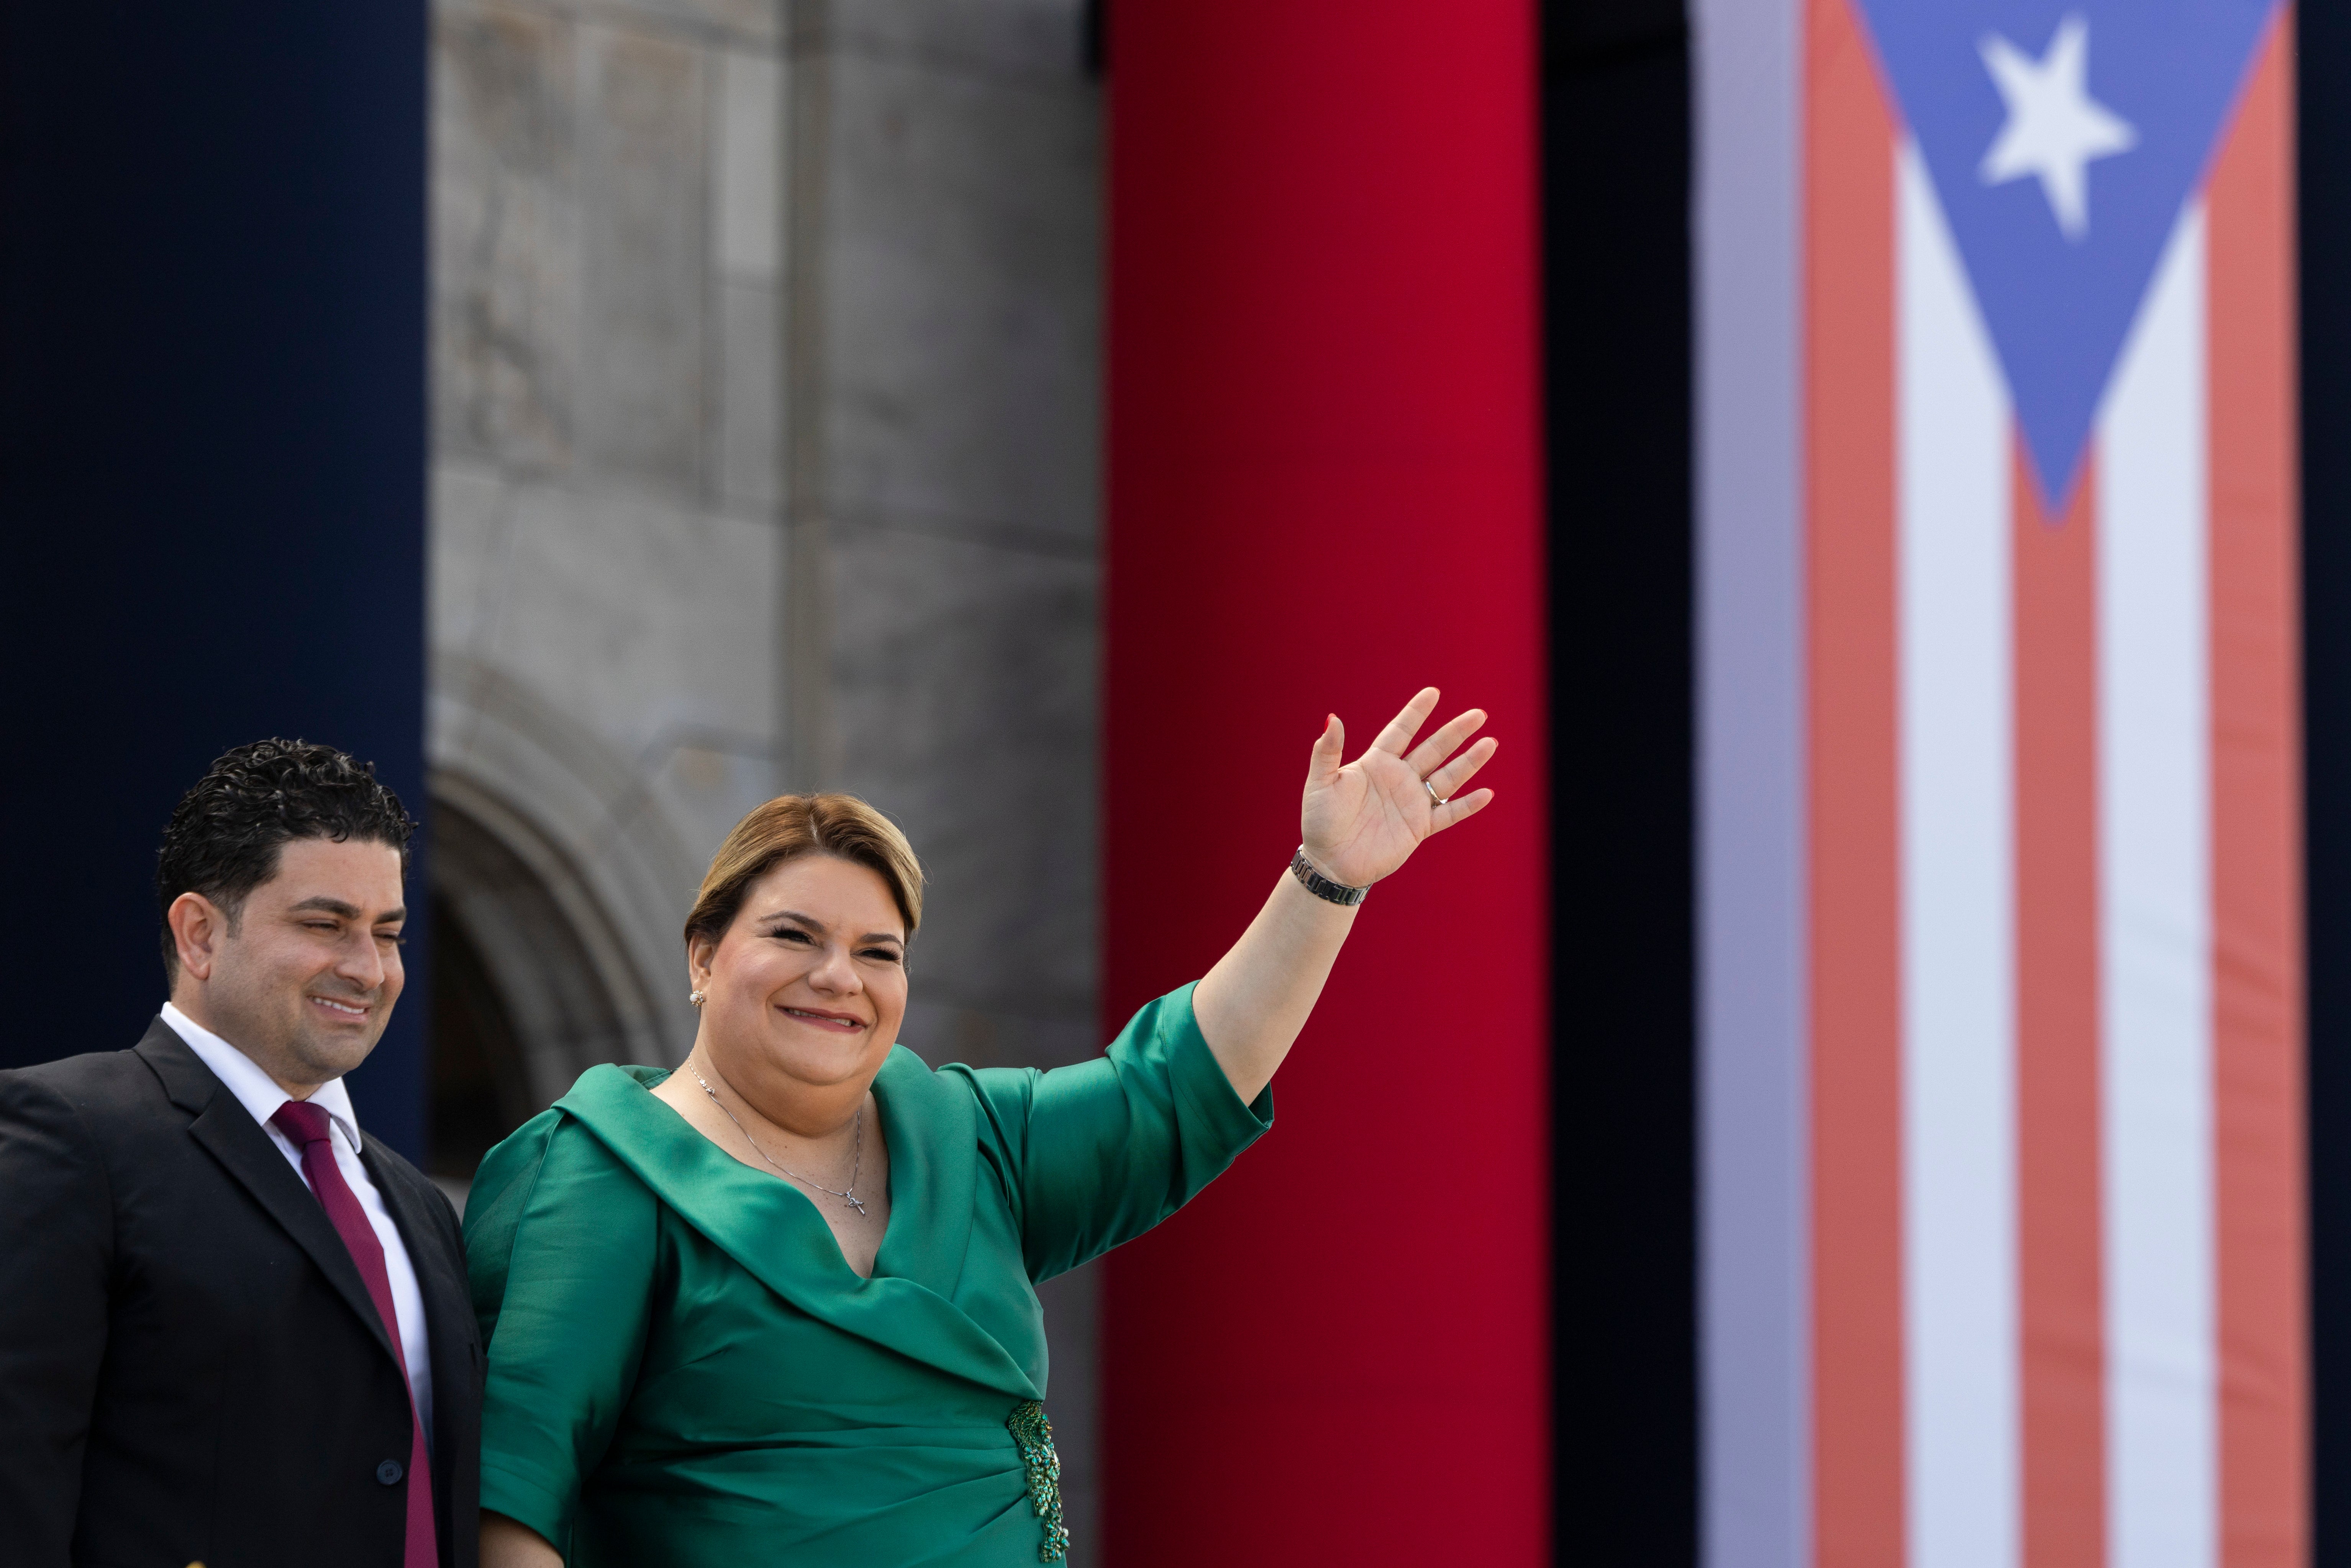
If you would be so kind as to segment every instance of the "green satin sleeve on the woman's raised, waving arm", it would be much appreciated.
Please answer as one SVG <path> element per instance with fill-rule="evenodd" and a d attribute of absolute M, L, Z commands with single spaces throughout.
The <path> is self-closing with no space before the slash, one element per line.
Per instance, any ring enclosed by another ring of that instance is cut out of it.
<path fill-rule="evenodd" d="M 1190 985 L 1147 1004 L 1091 1063 L 964 1072 L 983 1150 L 1018 1197 L 1030 1279 L 1159 1225 L 1274 1124 L 1274 1091 L 1244 1103 L 1208 1051 Z"/>

